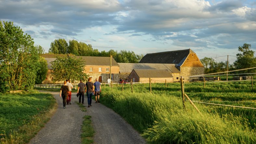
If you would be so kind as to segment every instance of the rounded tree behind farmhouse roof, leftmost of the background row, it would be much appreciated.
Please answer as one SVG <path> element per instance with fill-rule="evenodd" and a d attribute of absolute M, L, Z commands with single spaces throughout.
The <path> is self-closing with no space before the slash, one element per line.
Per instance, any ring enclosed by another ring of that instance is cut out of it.
<path fill-rule="evenodd" d="M 51 42 L 49 53 L 68 54 L 68 43 L 65 39 L 55 39 Z"/>

